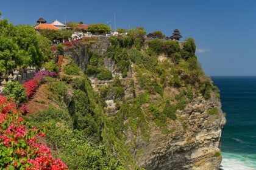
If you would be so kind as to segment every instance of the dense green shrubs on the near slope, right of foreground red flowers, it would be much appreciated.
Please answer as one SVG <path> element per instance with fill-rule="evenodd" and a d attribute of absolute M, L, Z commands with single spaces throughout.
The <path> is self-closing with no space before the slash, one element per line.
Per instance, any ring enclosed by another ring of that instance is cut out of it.
<path fill-rule="evenodd" d="M 91 116 L 93 107 L 88 98 L 80 91 L 74 98 L 74 115 L 69 115 L 67 110 L 50 108 L 26 117 L 26 120 L 32 125 L 46 127 L 46 141 L 58 149 L 54 154 L 65 161 L 69 169 L 123 169 L 105 146 L 93 143 L 99 138 L 96 137 L 99 127 L 95 124 L 95 115 Z"/>

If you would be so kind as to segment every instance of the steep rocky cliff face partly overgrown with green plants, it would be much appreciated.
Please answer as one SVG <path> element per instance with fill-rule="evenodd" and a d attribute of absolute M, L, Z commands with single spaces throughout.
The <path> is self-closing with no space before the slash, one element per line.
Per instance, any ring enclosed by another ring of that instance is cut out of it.
<path fill-rule="evenodd" d="M 210 80 L 188 63 L 194 61 L 180 59 L 177 64 L 177 52 L 148 54 L 149 42 L 141 50 L 123 49 L 118 54 L 115 50 L 121 48 L 110 51 L 112 47 L 104 38 L 65 52 L 82 70 L 97 53 L 95 67 L 112 73 L 111 80 L 88 75 L 107 115 L 104 144 L 128 169 L 219 169 L 226 118 Z M 121 54 L 130 61 L 126 75 L 118 60 Z"/>

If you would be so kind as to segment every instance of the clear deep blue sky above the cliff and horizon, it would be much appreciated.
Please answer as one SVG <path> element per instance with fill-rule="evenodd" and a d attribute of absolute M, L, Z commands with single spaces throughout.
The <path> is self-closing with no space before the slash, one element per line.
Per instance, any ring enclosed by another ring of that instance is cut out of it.
<path fill-rule="evenodd" d="M 1 0 L 0 11 L 13 24 L 83 21 L 112 22 L 116 28 L 143 26 L 170 36 L 179 29 L 193 37 L 197 56 L 207 75 L 256 75 L 256 1 L 254 0 L 166 0 L 166 1 L 58 1 Z"/>

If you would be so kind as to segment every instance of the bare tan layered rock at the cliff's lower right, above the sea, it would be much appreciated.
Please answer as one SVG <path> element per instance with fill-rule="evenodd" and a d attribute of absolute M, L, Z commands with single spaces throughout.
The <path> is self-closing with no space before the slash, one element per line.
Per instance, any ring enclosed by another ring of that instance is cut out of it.
<path fill-rule="evenodd" d="M 210 101 L 195 98 L 177 112 L 184 121 L 168 124 L 174 133 L 164 135 L 158 128 L 152 129 L 138 165 L 146 169 L 219 169 L 219 140 L 226 119 L 221 110 L 219 115 L 206 112 L 216 106 L 220 109 L 221 104 L 214 97 Z"/>

